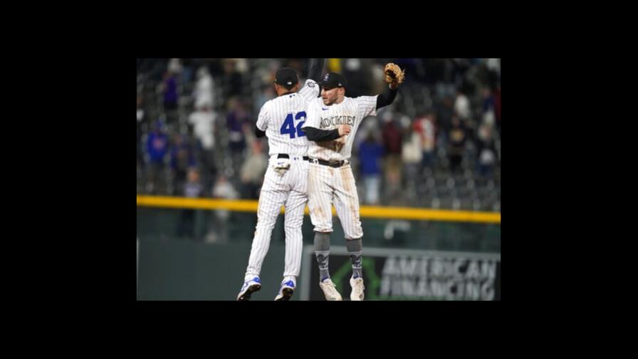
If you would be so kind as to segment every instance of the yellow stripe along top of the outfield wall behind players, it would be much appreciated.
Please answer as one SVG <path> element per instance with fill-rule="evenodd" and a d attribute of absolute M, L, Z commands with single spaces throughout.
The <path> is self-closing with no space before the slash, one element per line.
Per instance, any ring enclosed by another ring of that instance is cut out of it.
<path fill-rule="evenodd" d="M 137 205 L 142 207 L 169 207 L 193 209 L 229 209 L 238 212 L 257 212 L 258 202 L 249 199 L 207 199 L 137 195 Z M 283 206 L 281 213 L 283 213 Z M 305 208 L 308 213 L 308 207 Z M 333 207 L 333 215 L 336 215 Z M 416 219 L 422 221 L 501 223 L 501 212 L 451 211 L 409 207 L 361 206 L 361 217 L 385 219 Z"/>

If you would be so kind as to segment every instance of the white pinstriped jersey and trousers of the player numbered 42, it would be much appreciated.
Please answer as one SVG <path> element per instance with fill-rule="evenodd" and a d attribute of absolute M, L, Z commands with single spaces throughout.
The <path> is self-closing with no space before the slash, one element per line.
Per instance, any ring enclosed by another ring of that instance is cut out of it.
<path fill-rule="evenodd" d="M 299 276 L 303 246 L 301 225 L 303 209 L 308 202 L 308 161 L 303 160 L 308 155 L 308 139 L 301 126 L 307 117 L 308 101 L 318 95 L 318 84 L 309 79 L 298 93 L 288 93 L 269 100 L 259 112 L 257 128 L 266 132 L 268 155 L 271 157 L 259 196 L 257 227 L 246 276 L 261 273 L 261 265 L 266 258 L 271 233 L 282 205 L 286 208 L 286 266 L 283 276 Z M 286 154 L 289 159 L 278 159 L 279 154 Z M 279 161 L 290 162 L 290 168 L 283 175 L 273 168 Z"/>

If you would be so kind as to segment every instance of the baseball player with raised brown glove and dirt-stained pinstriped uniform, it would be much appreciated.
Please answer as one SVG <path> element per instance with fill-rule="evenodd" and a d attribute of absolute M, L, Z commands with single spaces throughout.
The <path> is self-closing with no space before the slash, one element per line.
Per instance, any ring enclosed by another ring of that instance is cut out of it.
<path fill-rule="evenodd" d="M 385 74 L 385 80 L 389 83 L 385 93 L 357 98 L 345 97 L 347 81 L 344 76 L 332 72 L 325 74 L 320 83 L 321 98 L 310 101 L 308 119 L 302 126 L 310 141 L 308 209 L 315 227 L 319 286 L 328 301 L 342 300 L 328 271 L 330 233 L 333 231 L 331 203 L 337 209 L 352 261 L 350 300 L 362 301 L 364 297 L 361 271 L 363 230 L 359 220 L 355 177 L 348 159 L 361 120 L 369 115 L 376 115 L 379 108 L 391 104 L 397 96 L 399 84 L 404 80 L 404 71 L 394 63 L 386 65 Z"/>

